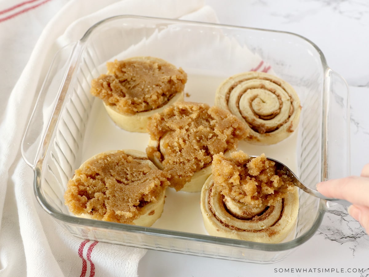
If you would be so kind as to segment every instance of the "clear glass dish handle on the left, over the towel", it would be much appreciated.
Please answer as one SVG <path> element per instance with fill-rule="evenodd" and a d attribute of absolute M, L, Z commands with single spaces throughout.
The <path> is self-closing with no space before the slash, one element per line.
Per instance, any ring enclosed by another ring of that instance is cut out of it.
<path fill-rule="evenodd" d="M 40 151 L 45 149 L 46 133 L 50 124 L 57 120 L 55 110 L 58 105 L 62 104 L 59 96 L 65 89 L 62 86 L 65 79 L 70 78 L 70 62 L 75 47 L 76 43 L 68 44 L 56 52 L 25 130 L 21 153 L 25 162 L 32 168 L 35 168 L 39 156 L 42 154 Z"/>

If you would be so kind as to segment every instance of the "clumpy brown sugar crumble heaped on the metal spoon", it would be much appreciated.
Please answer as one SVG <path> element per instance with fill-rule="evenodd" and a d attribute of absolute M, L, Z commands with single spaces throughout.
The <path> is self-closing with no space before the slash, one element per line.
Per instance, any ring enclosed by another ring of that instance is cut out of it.
<path fill-rule="evenodd" d="M 292 179 L 276 170 L 265 154 L 255 158 L 242 151 L 230 157 L 214 155 L 212 174 L 221 194 L 253 208 L 272 206 L 294 189 Z"/>

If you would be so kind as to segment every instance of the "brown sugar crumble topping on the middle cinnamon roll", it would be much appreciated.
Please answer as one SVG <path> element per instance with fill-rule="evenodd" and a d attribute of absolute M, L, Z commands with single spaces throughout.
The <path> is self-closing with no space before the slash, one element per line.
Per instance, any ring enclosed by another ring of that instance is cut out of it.
<path fill-rule="evenodd" d="M 161 147 L 146 148 L 148 156 L 162 161 L 170 174 L 170 187 L 177 191 L 193 173 L 209 165 L 213 155 L 233 150 L 248 133 L 243 123 L 219 107 L 180 102 L 155 114 L 148 124 L 152 140 Z"/>

